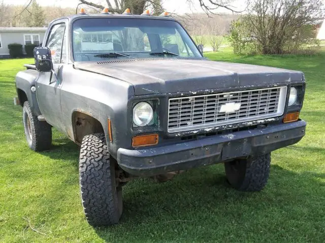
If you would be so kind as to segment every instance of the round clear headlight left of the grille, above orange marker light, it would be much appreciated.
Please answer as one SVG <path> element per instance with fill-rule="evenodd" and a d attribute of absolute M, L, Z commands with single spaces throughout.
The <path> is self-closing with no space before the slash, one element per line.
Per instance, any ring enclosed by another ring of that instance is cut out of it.
<path fill-rule="evenodd" d="M 137 126 L 143 127 L 148 125 L 152 117 L 153 110 L 147 102 L 140 102 L 133 108 L 133 122 Z"/>

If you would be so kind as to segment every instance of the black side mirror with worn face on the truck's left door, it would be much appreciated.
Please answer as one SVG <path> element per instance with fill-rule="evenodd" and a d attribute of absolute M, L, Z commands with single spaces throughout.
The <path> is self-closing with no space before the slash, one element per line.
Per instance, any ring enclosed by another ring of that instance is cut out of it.
<path fill-rule="evenodd" d="M 51 72 L 53 70 L 53 63 L 51 58 L 51 50 L 48 47 L 35 47 L 34 58 L 36 70 L 39 72 Z"/>

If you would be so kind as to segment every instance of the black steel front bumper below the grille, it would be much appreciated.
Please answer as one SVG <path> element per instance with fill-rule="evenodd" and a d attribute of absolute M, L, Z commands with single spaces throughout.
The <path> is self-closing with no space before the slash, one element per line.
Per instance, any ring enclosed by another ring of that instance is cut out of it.
<path fill-rule="evenodd" d="M 305 135 L 306 122 L 269 125 L 262 129 L 216 135 L 199 140 L 139 150 L 119 148 L 117 162 L 126 172 L 152 176 L 211 165 L 239 157 L 270 153 L 297 143 Z"/>

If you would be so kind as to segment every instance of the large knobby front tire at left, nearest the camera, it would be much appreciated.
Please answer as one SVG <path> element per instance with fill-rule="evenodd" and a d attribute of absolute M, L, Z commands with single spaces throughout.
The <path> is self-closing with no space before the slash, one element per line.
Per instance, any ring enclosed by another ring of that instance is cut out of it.
<path fill-rule="evenodd" d="M 81 199 L 88 223 L 117 224 L 122 214 L 122 188 L 116 187 L 116 161 L 110 158 L 105 134 L 83 138 L 79 158 Z"/>

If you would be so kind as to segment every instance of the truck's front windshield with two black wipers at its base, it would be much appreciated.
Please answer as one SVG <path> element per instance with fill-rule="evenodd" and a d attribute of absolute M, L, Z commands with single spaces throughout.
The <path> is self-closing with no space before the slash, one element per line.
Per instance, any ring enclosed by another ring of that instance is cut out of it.
<path fill-rule="evenodd" d="M 117 57 L 202 57 L 175 21 L 114 17 L 76 20 L 73 55 L 78 62 Z"/>

